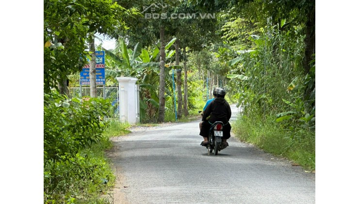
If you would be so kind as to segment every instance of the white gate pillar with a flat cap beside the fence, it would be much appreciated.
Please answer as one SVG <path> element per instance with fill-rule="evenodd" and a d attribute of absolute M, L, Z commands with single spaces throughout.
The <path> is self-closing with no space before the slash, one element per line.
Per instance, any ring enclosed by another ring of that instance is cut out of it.
<path fill-rule="evenodd" d="M 138 94 L 137 78 L 116 77 L 120 93 L 119 112 L 121 122 L 131 125 L 140 122 L 140 100 Z"/>

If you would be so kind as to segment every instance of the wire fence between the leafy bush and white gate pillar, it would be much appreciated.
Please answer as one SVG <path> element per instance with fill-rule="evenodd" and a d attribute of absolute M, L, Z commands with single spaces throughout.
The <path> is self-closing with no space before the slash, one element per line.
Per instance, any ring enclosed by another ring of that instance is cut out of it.
<path fill-rule="evenodd" d="M 118 87 L 97 87 L 97 96 L 109 99 L 112 104 L 111 119 L 119 119 L 119 95 Z M 90 87 L 71 87 L 68 88 L 69 98 L 81 98 L 82 96 L 90 96 Z"/>

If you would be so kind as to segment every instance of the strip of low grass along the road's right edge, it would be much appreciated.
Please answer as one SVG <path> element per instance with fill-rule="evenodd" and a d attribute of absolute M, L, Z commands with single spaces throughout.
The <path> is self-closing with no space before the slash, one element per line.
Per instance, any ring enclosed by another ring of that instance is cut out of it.
<path fill-rule="evenodd" d="M 274 118 L 239 117 L 232 125 L 236 137 L 265 152 L 286 157 L 305 170 L 315 171 L 315 133 L 283 129 Z"/>

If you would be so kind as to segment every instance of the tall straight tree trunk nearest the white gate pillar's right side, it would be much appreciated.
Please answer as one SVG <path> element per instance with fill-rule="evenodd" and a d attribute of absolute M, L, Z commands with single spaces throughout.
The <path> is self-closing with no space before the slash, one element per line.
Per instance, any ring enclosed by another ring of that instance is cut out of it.
<path fill-rule="evenodd" d="M 159 122 L 164 122 L 164 105 L 165 105 L 165 100 L 164 100 L 164 58 L 165 58 L 165 53 L 164 53 L 164 28 L 163 26 L 160 27 L 160 42 L 161 42 L 161 47 L 160 47 L 160 90 L 159 90 L 159 100 L 160 100 L 160 107 L 158 110 L 158 121 Z"/>

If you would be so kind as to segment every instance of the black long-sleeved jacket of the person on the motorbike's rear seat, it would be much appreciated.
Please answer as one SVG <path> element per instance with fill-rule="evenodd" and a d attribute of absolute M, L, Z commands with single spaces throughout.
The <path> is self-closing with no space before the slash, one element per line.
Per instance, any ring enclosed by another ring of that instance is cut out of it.
<path fill-rule="evenodd" d="M 224 98 L 215 98 L 204 110 L 202 120 L 205 121 L 207 117 L 211 116 L 210 123 L 222 121 L 227 124 L 231 115 L 229 103 Z"/>

